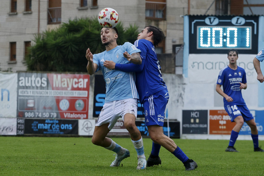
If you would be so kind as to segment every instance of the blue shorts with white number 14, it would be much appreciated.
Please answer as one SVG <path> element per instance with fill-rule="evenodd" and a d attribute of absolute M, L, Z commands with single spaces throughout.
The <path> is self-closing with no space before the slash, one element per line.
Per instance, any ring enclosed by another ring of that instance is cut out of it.
<path fill-rule="evenodd" d="M 246 105 L 227 105 L 225 106 L 225 110 L 228 113 L 231 122 L 233 122 L 234 119 L 239 115 L 242 115 L 244 122 L 254 119 Z"/>

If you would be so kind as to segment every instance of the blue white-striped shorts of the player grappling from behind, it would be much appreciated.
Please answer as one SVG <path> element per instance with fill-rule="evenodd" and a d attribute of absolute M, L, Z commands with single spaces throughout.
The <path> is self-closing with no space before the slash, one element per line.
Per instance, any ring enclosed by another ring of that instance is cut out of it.
<path fill-rule="evenodd" d="M 168 90 L 160 90 L 143 100 L 145 125 L 163 126 L 165 108 L 169 100 Z"/>

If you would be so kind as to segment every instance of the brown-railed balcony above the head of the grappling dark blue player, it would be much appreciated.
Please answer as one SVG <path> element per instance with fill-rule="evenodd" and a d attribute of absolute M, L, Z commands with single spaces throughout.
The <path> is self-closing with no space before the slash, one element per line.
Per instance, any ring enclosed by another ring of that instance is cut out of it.
<path fill-rule="evenodd" d="M 146 2 L 146 19 L 166 19 L 166 3 Z"/>

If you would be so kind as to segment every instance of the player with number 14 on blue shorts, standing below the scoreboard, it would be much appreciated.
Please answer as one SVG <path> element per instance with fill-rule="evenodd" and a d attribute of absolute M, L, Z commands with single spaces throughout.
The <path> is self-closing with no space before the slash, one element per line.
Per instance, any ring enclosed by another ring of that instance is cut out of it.
<path fill-rule="evenodd" d="M 245 70 L 238 67 L 236 63 L 238 59 L 238 51 L 235 49 L 229 50 L 227 58 L 229 60 L 229 65 L 222 68 L 216 84 L 216 92 L 224 97 L 224 108 L 228 113 L 231 122 L 236 123 L 231 131 L 231 137 L 226 152 L 238 152 L 234 148 L 234 144 L 244 121 L 251 128 L 254 152 L 264 152 L 264 150 L 258 146 L 258 129 L 253 115 L 248 110 L 242 97 L 241 89 L 247 88 L 247 80 Z M 221 90 L 221 85 L 223 85 L 224 91 Z"/>

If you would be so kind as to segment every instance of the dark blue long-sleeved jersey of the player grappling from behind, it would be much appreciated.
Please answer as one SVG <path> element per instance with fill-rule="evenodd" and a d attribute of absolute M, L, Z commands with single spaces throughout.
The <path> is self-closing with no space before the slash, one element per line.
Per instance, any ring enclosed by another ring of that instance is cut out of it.
<path fill-rule="evenodd" d="M 142 63 L 116 64 L 115 69 L 122 71 L 136 71 L 136 86 L 139 100 L 142 103 L 146 97 L 160 91 L 167 90 L 167 86 L 161 75 L 160 62 L 153 43 L 148 40 L 136 40 L 134 45 L 141 50 Z"/>

